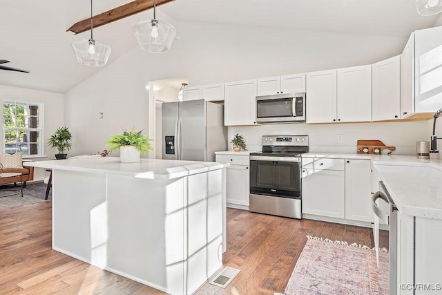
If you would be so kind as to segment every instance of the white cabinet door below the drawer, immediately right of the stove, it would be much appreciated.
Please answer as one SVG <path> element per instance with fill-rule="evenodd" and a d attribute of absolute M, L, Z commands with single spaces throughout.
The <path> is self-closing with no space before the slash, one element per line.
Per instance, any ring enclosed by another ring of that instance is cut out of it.
<path fill-rule="evenodd" d="M 302 169 L 302 213 L 344 218 L 344 171 Z"/>

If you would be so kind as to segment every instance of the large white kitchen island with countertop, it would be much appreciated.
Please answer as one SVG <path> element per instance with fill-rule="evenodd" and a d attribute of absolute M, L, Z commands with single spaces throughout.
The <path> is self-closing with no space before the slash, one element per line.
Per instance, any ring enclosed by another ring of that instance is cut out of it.
<path fill-rule="evenodd" d="M 29 162 L 52 169 L 52 248 L 169 294 L 222 267 L 228 164 L 119 158 Z"/>

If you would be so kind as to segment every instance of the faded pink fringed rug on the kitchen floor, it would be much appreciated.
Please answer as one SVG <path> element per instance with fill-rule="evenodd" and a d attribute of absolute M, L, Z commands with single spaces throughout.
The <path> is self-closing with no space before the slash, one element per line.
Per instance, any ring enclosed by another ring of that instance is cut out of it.
<path fill-rule="evenodd" d="M 388 294 L 386 249 L 379 251 L 378 269 L 374 249 L 311 236 L 307 239 L 285 295 Z"/>

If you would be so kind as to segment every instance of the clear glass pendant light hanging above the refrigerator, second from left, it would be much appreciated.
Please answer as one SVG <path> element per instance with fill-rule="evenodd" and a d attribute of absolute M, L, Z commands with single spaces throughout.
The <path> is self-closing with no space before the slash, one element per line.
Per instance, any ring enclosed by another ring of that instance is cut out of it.
<path fill-rule="evenodd" d="M 156 19 L 155 6 L 153 0 L 153 19 L 137 21 L 132 28 L 142 49 L 149 53 L 166 53 L 171 48 L 176 30 L 170 23 Z"/>

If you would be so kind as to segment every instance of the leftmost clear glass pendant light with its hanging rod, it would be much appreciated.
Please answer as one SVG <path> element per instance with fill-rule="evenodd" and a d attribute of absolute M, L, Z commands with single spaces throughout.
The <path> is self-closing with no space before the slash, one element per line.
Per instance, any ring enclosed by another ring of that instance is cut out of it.
<path fill-rule="evenodd" d="M 93 38 L 92 0 L 90 0 L 90 39 L 72 44 L 78 62 L 84 66 L 104 66 L 111 55 L 111 47 Z"/>

